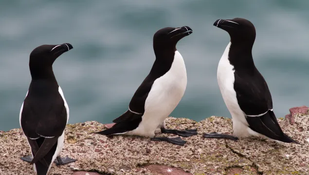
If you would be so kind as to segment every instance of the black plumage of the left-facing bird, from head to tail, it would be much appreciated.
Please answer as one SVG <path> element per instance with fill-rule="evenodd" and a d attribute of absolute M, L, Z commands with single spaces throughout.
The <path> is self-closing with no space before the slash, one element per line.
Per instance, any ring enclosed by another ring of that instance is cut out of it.
<path fill-rule="evenodd" d="M 231 37 L 228 59 L 235 70 L 234 90 L 249 127 L 274 140 L 296 142 L 283 133 L 273 113 L 270 90 L 254 65 L 252 56 L 256 35 L 254 25 L 243 18 L 218 19 L 214 25 L 227 31 Z"/>

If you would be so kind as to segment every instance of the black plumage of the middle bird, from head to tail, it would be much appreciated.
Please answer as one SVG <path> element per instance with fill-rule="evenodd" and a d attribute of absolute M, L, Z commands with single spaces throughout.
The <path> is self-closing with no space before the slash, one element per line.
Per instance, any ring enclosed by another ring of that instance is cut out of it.
<path fill-rule="evenodd" d="M 192 29 L 188 26 L 181 28 L 166 27 L 157 31 L 153 36 L 153 50 L 156 60 L 139 88 L 135 91 L 130 103 L 129 109 L 117 119 L 112 128 L 98 132 L 98 134 L 110 135 L 115 133 L 123 133 L 138 127 L 142 121 L 145 112 L 145 101 L 154 81 L 163 76 L 170 70 L 174 61 L 176 44 L 186 35 L 190 35 Z"/>

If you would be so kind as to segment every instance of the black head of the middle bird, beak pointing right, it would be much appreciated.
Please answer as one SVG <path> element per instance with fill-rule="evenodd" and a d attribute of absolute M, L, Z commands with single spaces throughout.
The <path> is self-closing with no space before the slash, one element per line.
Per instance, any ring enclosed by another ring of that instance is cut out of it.
<path fill-rule="evenodd" d="M 188 26 L 180 28 L 166 27 L 158 30 L 153 36 L 153 48 L 156 50 L 176 51 L 176 44 L 184 36 L 192 34 L 192 29 Z"/>

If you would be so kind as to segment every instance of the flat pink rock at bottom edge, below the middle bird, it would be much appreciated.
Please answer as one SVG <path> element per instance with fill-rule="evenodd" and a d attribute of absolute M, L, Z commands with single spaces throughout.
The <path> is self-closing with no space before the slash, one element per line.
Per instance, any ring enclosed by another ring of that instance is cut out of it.
<path fill-rule="evenodd" d="M 166 165 L 147 165 L 144 168 L 159 175 L 192 175 L 183 171 L 181 168 L 172 168 Z"/>

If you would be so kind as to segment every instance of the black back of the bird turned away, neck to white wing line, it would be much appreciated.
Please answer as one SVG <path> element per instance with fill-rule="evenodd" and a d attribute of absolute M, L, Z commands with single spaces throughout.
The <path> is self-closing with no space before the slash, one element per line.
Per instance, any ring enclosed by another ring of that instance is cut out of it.
<path fill-rule="evenodd" d="M 32 80 L 21 113 L 21 126 L 29 138 L 59 137 L 67 122 L 64 101 L 55 80 Z"/>

